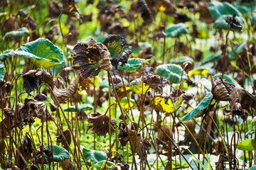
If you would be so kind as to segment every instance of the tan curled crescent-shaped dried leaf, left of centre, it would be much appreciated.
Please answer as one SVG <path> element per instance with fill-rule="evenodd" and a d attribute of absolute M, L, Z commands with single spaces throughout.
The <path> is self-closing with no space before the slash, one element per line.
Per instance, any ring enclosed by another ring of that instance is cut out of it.
<path fill-rule="evenodd" d="M 68 98 L 75 96 L 75 93 L 78 89 L 79 79 L 80 74 L 78 74 L 78 76 L 75 77 L 75 80 L 72 82 L 72 84 L 70 84 L 70 86 L 68 86 L 65 89 L 57 89 L 56 86 L 53 87 L 53 94 L 56 96 L 60 103 L 65 103 L 65 101 L 68 100 Z M 57 103 L 55 101 L 55 98 L 53 98 L 53 101 Z"/>

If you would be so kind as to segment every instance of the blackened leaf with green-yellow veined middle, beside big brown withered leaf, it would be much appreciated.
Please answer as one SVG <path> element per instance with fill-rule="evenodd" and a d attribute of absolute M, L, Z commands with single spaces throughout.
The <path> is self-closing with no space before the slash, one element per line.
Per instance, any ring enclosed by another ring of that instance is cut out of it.
<path fill-rule="evenodd" d="M 120 66 L 126 64 L 129 55 L 132 54 L 132 50 L 127 45 L 127 40 L 120 35 L 108 35 L 102 44 L 106 45 L 110 51 L 111 64 L 115 69 L 117 69 L 119 62 L 121 62 Z"/>

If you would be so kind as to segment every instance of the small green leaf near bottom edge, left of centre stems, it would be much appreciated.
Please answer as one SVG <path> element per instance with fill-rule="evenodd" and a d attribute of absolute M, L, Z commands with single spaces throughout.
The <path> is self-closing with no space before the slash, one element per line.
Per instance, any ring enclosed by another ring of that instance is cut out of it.
<path fill-rule="evenodd" d="M 107 154 L 103 151 L 82 149 L 82 154 L 87 161 L 100 162 L 107 160 Z"/>

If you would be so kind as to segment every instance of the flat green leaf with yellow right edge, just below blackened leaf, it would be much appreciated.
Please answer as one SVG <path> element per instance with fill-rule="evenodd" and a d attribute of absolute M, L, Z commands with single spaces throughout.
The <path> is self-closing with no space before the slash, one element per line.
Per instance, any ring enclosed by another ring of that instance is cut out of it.
<path fill-rule="evenodd" d="M 141 58 L 132 58 L 128 59 L 127 64 L 124 64 L 123 66 L 118 65 L 118 69 L 127 71 L 129 73 L 137 72 L 139 69 L 141 69 L 146 62 L 149 62 L 150 60 L 144 60 Z"/>

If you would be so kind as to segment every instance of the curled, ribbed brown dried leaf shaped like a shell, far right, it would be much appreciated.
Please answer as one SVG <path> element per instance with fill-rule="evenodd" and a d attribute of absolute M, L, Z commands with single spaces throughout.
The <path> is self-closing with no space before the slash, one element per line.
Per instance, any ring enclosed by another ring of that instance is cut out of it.
<path fill-rule="evenodd" d="M 223 80 L 218 77 L 215 81 L 213 77 L 210 77 L 211 84 L 212 84 L 212 93 L 213 97 L 217 101 L 230 101 L 230 90 L 233 90 L 233 87 L 228 84 L 227 81 Z M 224 84 L 223 84 L 224 83 Z"/>

